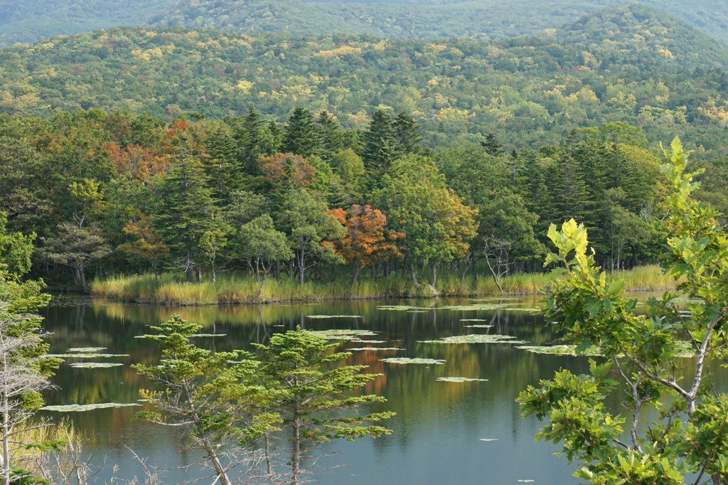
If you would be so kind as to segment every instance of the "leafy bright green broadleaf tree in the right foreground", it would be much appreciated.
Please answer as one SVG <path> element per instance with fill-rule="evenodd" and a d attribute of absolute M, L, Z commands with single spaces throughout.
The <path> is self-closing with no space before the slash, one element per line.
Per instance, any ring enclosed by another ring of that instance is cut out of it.
<path fill-rule="evenodd" d="M 577 353 L 596 352 L 601 363 L 592 360 L 590 374 L 558 371 L 539 387 L 529 386 L 518 401 L 524 416 L 550 420 L 537 438 L 563 443 L 566 457 L 583 465 L 574 475 L 594 484 L 689 479 L 717 485 L 728 479 L 728 395 L 713 387 L 708 374 L 712 362 L 728 360 L 728 237 L 716 224 L 718 213 L 692 200 L 699 185 L 693 178 L 702 170 L 686 172 L 678 138 L 664 152 L 673 234 L 664 268 L 680 293 L 665 292 L 649 299 L 646 314 L 636 312 L 625 283 L 608 283 L 596 267 L 584 226 L 571 220 L 561 231 L 552 225 L 548 234 L 558 253 L 546 264 L 558 264 L 559 277 L 546 288 L 545 317 Z M 686 355 L 692 356 L 689 367 L 678 360 Z M 628 418 L 606 406 L 617 387 Z M 641 429 L 638 419 L 647 412 L 659 418 Z"/>

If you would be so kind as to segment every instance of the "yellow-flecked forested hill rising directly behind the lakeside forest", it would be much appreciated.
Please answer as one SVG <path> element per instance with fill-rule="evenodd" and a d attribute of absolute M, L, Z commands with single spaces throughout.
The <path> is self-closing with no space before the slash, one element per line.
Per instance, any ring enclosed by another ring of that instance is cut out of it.
<path fill-rule="evenodd" d="M 653 140 L 724 149 L 726 47 L 646 7 L 596 15 L 494 42 L 95 31 L 0 50 L 0 111 L 222 118 L 256 106 L 282 122 L 305 106 L 363 128 L 382 109 L 410 113 L 430 146 L 496 133 L 509 148 L 624 121 Z"/>

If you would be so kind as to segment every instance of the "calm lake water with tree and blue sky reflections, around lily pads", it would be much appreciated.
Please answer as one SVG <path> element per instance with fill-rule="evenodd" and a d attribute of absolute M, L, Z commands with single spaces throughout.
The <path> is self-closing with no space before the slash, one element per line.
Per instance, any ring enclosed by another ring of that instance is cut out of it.
<path fill-rule="evenodd" d="M 60 389 L 47 393 L 47 403 L 134 403 L 138 389 L 149 382 L 130 368 L 132 363 L 156 363 L 157 344 L 135 336 L 149 333 L 149 326 L 180 313 L 200 323 L 205 333 L 226 334 L 201 338 L 196 343 L 215 350 L 249 348 L 250 342 L 266 343 L 271 334 L 287 329 L 361 328 L 376 332 L 365 339 L 385 341 L 372 347 L 398 347 L 403 350 L 356 351 L 347 364 L 366 364 L 384 374 L 369 385 L 369 393 L 379 393 L 387 403 L 376 409 L 395 411 L 387 422 L 392 435 L 373 440 L 334 442 L 327 465 L 348 464 L 317 474 L 323 484 L 352 485 L 447 485 L 576 484 L 574 467 L 554 457 L 558 449 L 549 443 L 534 443 L 539 422 L 522 419 L 515 398 L 529 384 L 553 376 L 558 368 L 586 371 L 585 358 L 537 355 L 511 344 L 425 344 L 418 341 L 465 334 L 504 334 L 530 344 L 547 344 L 553 336 L 542 320 L 528 312 L 508 309 L 450 310 L 445 305 L 492 303 L 494 301 L 336 301 L 238 307 L 175 308 L 154 305 L 116 304 L 86 301 L 56 304 L 44 311 L 45 326 L 54 335 L 52 352 L 69 347 L 106 347 L 122 358 L 99 361 L 124 363 L 113 368 L 71 368 L 67 360 L 54 378 Z M 510 302 L 510 301 L 509 301 Z M 515 307 L 531 307 L 533 301 L 517 301 Z M 377 309 L 383 304 L 410 304 L 432 309 L 420 312 Z M 307 315 L 361 315 L 362 318 L 312 319 Z M 482 319 L 485 321 L 462 321 Z M 465 325 L 491 324 L 492 328 L 465 328 Z M 344 342 L 341 350 L 363 347 L 362 342 Z M 384 363 L 386 357 L 419 357 L 446 360 L 443 365 L 398 365 Z M 90 360 L 90 359 L 76 359 Z M 488 379 L 487 382 L 438 382 L 438 376 Z M 98 409 L 82 413 L 45 414 L 60 419 L 70 417 L 88 436 L 90 452 L 105 469 L 98 483 L 112 478 L 131 478 L 140 473 L 132 454 L 124 446 L 148 457 L 150 465 L 173 468 L 199 459 L 196 450 L 184 450 L 174 431 L 144 422 L 132 422 L 143 407 Z M 495 441 L 483 441 L 495 440 Z M 116 471 L 114 471 L 114 465 Z M 183 481 L 179 471 L 163 476 L 167 484 Z M 519 482 L 521 481 L 521 482 Z M 207 483 L 207 482 L 202 482 Z"/>

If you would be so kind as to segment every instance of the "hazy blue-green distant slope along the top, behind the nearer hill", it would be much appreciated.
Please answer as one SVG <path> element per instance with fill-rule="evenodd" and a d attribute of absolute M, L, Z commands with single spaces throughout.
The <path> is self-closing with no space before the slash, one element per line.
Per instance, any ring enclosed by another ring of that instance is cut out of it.
<path fill-rule="evenodd" d="M 0 45 L 121 25 L 221 28 L 297 35 L 363 33 L 495 39 L 558 28 L 620 0 L 0 0 Z M 716 39 L 728 40 L 725 0 L 646 0 Z"/>

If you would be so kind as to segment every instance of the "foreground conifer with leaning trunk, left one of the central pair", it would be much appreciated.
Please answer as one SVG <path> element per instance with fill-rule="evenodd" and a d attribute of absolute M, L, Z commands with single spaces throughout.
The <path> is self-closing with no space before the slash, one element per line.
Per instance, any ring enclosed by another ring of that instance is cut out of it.
<path fill-rule="evenodd" d="M 146 338 L 164 347 L 162 358 L 157 366 L 133 367 L 164 389 L 140 390 L 159 411 L 140 411 L 135 418 L 186 429 L 205 450 L 215 479 L 232 485 L 230 471 L 240 458 L 226 460 L 223 446 L 229 449 L 231 443 L 245 443 L 276 429 L 277 415 L 258 411 L 276 393 L 253 381 L 256 363 L 248 352 L 212 352 L 189 343 L 200 328 L 179 315 L 151 327 L 158 334 Z"/>

